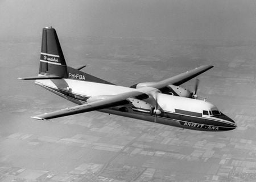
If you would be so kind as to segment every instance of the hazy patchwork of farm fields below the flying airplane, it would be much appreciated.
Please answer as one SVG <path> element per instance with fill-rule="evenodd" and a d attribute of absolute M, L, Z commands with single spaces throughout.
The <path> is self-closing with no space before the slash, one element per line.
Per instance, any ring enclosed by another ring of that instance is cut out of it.
<path fill-rule="evenodd" d="M 97 111 L 35 120 L 31 116 L 75 104 L 17 79 L 38 74 L 41 29 L 2 33 L 1 182 L 256 180 L 256 40 L 76 36 L 55 28 L 69 66 L 86 65 L 85 73 L 122 86 L 213 65 L 197 77 L 198 95 L 237 128 L 201 132 Z M 181 86 L 193 90 L 195 82 Z"/>

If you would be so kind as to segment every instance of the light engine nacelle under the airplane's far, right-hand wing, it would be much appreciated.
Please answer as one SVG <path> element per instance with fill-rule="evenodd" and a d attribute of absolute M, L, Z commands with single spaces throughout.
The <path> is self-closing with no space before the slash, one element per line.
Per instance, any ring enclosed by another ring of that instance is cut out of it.
<path fill-rule="evenodd" d="M 163 92 L 163 94 L 170 94 L 175 96 L 181 96 L 184 98 L 192 98 L 193 92 L 187 90 L 187 88 L 175 86 L 173 84 L 169 84 L 167 86 L 167 90 Z"/>

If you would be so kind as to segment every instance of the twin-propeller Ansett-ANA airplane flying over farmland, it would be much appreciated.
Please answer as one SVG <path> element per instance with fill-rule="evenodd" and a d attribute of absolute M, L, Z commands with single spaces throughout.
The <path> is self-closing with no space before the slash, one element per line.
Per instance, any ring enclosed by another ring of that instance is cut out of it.
<path fill-rule="evenodd" d="M 38 120 L 100 111 L 209 132 L 233 130 L 237 126 L 215 105 L 198 99 L 198 79 L 195 92 L 180 87 L 211 69 L 212 65 L 196 67 L 159 82 L 138 83 L 131 87 L 118 86 L 81 71 L 85 66 L 76 69 L 67 66 L 56 30 L 52 27 L 43 28 L 39 62 L 38 76 L 18 79 L 35 80 L 35 84 L 78 105 L 32 116 Z"/>

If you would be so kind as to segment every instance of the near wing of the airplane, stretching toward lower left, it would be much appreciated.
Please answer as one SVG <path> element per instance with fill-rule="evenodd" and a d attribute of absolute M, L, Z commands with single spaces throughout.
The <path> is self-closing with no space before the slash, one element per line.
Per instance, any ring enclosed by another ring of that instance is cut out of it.
<path fill-rule="evenodd" d="M 69 108 L 65 108 L 65 109 L 60 109 L 58 111 L 44 113 L 42 115 L 32 116 L 32 118 L 36 118 L 38 120 L 48 120 L 48 119 L 56 118 L 56 117 L 75 115 L 78 113 L 95 111 L 98 109 L 105 109 L 105 108 L 109 108 L 109 107 L 115 107 L 118 105 L 129 104 L 130 101 L 127 100 L 127 98 L 135 97 L 137 99 L 142 99 L 142 98 L 145 98 L 145 95 L 146 94 L 144 94 L 143 92 L 140 92 L 140 91 L 125 92 L 122 94 L 111 95 L 111 96 L 109 96 L 109 98 L 92 101 L 92 102 L 78 105 L 75 107 L 69 107 Z"/>

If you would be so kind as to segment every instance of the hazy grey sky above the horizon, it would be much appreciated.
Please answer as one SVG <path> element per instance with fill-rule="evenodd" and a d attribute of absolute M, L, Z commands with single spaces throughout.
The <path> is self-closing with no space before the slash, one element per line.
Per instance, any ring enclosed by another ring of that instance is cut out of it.
<path fill-rule="evenodd" d="M 0 36 L 256 40 L 255 0 L 0 0 Z"/>

